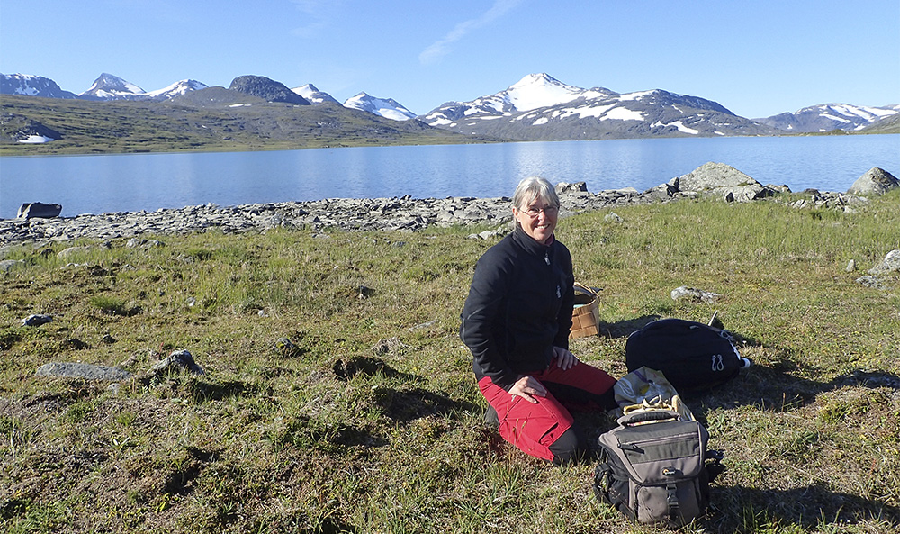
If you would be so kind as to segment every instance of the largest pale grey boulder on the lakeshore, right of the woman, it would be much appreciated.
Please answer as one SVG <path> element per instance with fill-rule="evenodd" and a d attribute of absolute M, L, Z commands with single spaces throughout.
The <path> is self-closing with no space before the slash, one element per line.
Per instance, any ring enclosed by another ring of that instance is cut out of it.
<path fill-rule="evenodd" d="M 716 196 L 730 202 L 750 202 L 774 194 L 770 187 L 763 186 L 738 169 L 714 162 L 704 163 L 688 174 L 673 179 L 670 185 L 681 194 Z"/>

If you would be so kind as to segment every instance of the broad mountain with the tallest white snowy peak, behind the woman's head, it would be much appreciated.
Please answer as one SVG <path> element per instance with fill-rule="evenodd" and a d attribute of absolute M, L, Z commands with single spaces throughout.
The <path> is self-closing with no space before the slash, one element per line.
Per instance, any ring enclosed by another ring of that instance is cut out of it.
<path fill-rule="evenodd" d="M 495 95 L 449 102 L 423 118 L 432 126 L 511 140 L 588 140 L 656 136 L 756 135 L 768 126 L 698 96 L 661 89 L 619 94 L 567 86 L 546 74 Z"/>

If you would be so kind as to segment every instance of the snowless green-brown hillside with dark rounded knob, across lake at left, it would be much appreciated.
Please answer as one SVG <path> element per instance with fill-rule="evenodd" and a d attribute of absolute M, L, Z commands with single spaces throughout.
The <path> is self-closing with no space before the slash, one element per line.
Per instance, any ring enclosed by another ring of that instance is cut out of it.
<path fill-rule="evenodd" d="M 268 103 L 222 87 L 191 91 L 165 102 L 4 95 L 0 117 L 0 154 L 4 155 L 491 141 L 442 131 L 419 121 L 391 121 L 339 104 Z M 47 132 L 58 137 L 50 138 Z M 54 140 L 21 142 L 40 140 L 39 136 Z"/>

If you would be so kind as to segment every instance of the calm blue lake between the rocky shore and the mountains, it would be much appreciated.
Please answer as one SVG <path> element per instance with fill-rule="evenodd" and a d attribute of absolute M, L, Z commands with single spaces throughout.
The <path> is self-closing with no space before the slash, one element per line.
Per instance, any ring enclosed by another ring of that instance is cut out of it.
<path fill-rule="evenodd" d="M 716 161 L 793 191 L 900 176 L 900 135 L 523 142 L 275 152 L 0 158 L 0 218 L 27 202 L 64 216 L 196 204 L 511 195 L 526 176 L 645 190 Z"/>

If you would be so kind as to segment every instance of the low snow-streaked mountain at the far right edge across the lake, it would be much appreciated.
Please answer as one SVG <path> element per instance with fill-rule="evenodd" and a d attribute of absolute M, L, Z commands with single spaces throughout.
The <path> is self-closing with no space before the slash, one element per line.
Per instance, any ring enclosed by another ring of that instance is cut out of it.
<path fill-rule="evenodd" d="M 900 104 L 884 107 L 819 104 L 794 113 L 779 113 L 756 121 L 779 130 L 795 132 L 857 131 L 897 113 L 900 113 Z"/>

